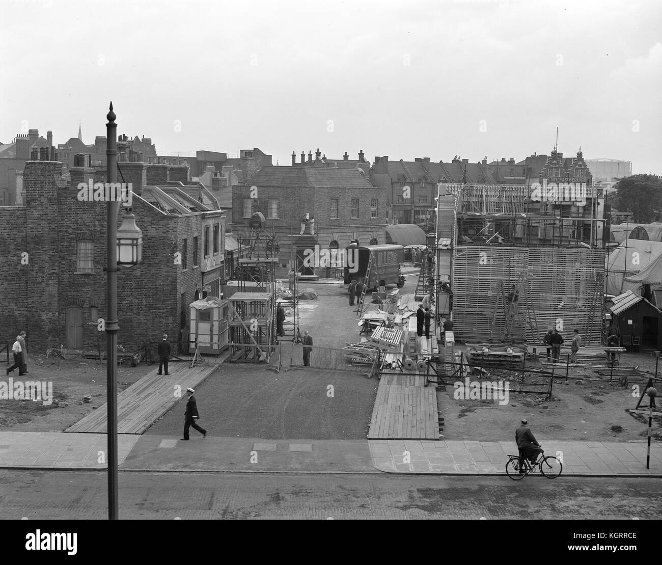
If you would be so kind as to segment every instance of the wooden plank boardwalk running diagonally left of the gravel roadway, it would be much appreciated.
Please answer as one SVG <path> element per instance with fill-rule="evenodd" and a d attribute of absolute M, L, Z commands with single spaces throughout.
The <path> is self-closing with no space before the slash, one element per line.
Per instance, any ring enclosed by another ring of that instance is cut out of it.
<path fill-rule="evenodd" d="M 146 374 L 117 395 L 117 433 L 142 434 L 175 402 L 186 396 L 188 387 L 195 389 L 216 367 L 215 364 L 196 365 L 191 369 L 187 363 L 171 363 L 169 375 L 158 375 L 158 369 Z M 181 396 L 175 396 L 176 386 L 181 387 Z M 183 411 L 181 417 L 183 420 Z M 65 431 L 105 434 L 107 418 L 108 405 L 104 404 Z"/>

